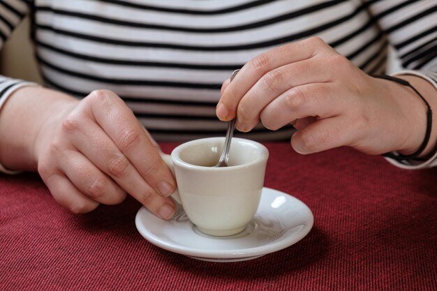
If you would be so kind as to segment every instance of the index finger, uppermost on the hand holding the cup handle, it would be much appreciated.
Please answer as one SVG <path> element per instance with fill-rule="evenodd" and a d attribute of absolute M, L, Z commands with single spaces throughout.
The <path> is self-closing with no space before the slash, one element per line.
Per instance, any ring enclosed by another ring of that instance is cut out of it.
<path fill-rule="evenodd" d="M 96 123 L 147 184 L 163 196 L 171 195 L 175 179 L 133 112 L 110 91 L 97 91 L 93 97 L 91 111 Z"/>

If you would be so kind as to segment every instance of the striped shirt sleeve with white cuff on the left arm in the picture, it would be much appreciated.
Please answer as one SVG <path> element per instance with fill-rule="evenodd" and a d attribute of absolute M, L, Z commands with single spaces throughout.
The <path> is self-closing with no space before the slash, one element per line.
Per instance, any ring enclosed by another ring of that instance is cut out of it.
<path fill-rule="evenodd" d="M 0 1 L 0 49 L 10 36 L 10 33 L 17 27 L 24 16 L 29 13 L 29 5 L 29 0 Z M 12 95 L 14 91 L 24 86 L 38 86 L 38 84 L 0 75 L 0 113 L 1 107 L 6 103 L 8 97 Z M 1 164 L 0 172 L 8 174 L 16 173 L 15 171 L 6 169 Z"/>

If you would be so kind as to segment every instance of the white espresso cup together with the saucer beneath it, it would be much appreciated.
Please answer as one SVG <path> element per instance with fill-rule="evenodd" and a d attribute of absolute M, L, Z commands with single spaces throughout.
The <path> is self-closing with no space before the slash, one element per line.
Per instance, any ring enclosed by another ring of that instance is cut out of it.
<path fill-rule="evenodd" d="M 267 149 L 235 138 L 230 166 L 211 167 L 222 146 L 221 137 L 193 140 L 163 156 L 177 180 L 178 193 L 172 197 L 178 208 L 165 221 L 141 207 L 135 225 L 142 237 L 167 251 L 210 262 L 252 260 L 304 238 L 313 226 L 309 207 L 263 187 Z"/>

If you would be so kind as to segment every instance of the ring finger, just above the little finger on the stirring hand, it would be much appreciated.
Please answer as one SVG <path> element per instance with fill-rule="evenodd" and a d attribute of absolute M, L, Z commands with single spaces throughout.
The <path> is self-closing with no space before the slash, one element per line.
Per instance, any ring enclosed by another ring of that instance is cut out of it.
<path fill-rule="evenodd" d="M 260 113 L 262 124 L 277 130 L 295 119 L 334 117 L 344 111 L 350 98 L 331 83 L 312 83 L 293 87 L 269 103 Z"/>

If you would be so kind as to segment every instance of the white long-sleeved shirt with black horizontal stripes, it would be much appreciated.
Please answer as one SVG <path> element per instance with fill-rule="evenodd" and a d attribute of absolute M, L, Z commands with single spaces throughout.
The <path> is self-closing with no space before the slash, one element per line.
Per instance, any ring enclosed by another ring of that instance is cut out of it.
<path fill-rule="evenodd" d="M 387 45 L 437 88 L 436 0 L 0 0 L 0 45 L 25 15 L 47 87 L 110 89 L 158 141 L 224 135 L 215 114 L 232 70 L 277 45 L 320 36 L 366 73 Z M 23 81 L 0 77 L 0 104 Z M 244 137 L 286 140 L 291 127 Z"/>

